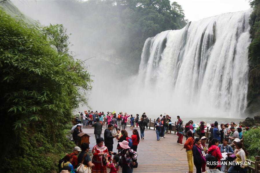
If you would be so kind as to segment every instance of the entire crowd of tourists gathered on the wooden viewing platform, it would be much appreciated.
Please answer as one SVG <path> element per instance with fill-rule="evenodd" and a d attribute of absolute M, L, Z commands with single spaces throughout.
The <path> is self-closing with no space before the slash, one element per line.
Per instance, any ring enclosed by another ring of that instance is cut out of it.
<path fill-rule="evenodd" d="M 70 171 L 74 172 L 88 172 L 93 173 L 106 173 L 106 168 L 110 168 L 110 173 L 118 172 L 119 166 L 122 167 L 122 172 L 133 172 L 133 169 L 137 167 L 137 146 L 140 140 L 144 139 L 144 131 L 148 128 L 149 119 L 143 113 L 141 118 L 128 115 L 127 113 L 116 114 L 115 112 L 93 112 L 85 111 L 84 113 L 78 113 L 76 115 L 76 121 L 81 124 L 76 125 L 73 130 L 73 140 L 78 145 L 78 134 L 82 132 L 81 127 L 92 126 L 94 127 L 94 134 L 96 138 L 96 145 L 92 148 L 93 158 L 88 155 L 89 144 L 81 144 L 81 148 L 76 146 L 71 154 L 66 155 L 60 160 L 60 172 Z M 105 123 L 106 122 L 106 123 Z M 126 131 L 126 124 L 129 122 L 130 128 L 132 128 L 132 135 L 129 137 Z M 103 125 L 106 124 L 104 131 L 104 138 L 101 137 Z M 134 129 L 134 125 L 136 128 Z M 209 138 L 206 137 L 206 129 L 208 125 L 206 122 L 201 121 L 198 126 L 193 123 L 192 120 L 183 125 L 183 121 L 180 116 L 177 116 L 177 123 L 175 130 L 177 131 L 179 145 L 183 145 L 186 149 L 187 161 L 189 165 L 189 171 L 193 172 L 193 164 L 196 167 L 196 172 L 225 172 L 226 161 L 236 161 L 245 163 L 248 153 L 240 142 L 242 138 L 241 127 L 236 127 L 234 122 L 229 124 L 220 124 L 215 122 L 210 124 Z M 121 129 L 122 128 L 122 129 Z M 140 129 L 141 137 L 137 129 Z M 154 122 L 154 128 L 156 131 L 156 139 L 165 138 L 165 133 L 171 134 L 172 120 L 169 115 L 160 115 L 156 122 Z M 246 131 L 249 128 L 245 128 Z M 196 137 L 194 134 L 199 137 Z M 246 133 L 246 132 L 244 132 Z M 183 144 L 182 139 L 186 137 L 186 142 Z M 113 152 L 114 138 L 117 139 L 117 150 Z M 206 144 L 208 142 L 208 144 Z M 234 150 L 231 147 L 233 144 Z M 77 156 L 78 155 L 78 156 Z M 112 157 L 113 156 L 113 157 Z M 214 164 L 206 164 L 215 162 Z M 209 170 L 206 170 L 206 166 Z M 247 172 L 247 165 L 232 165 L 227 170 L 228 173 L 244 173 Z"/>

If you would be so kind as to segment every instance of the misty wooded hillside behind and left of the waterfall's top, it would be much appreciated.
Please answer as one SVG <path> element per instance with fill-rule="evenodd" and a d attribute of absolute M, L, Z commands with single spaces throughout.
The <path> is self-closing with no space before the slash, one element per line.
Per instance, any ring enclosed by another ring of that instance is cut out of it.
<path fill-rule="evenodd" d="M 109 59 L 130 73 L 138 72 L 148 37 L 186 25 L 182 7 L 169 0 L 67 1 L 54 5 L 68 12 L 64 17 L 72 25 L 80 25 L 89 57 Z"/>

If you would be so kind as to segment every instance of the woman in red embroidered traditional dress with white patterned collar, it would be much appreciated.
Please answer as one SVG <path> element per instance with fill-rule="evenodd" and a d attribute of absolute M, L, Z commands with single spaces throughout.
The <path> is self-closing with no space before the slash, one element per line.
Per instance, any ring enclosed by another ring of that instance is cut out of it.
<path fill-rule="evenodd" d="M 107 173 L 106 165 L 103 165 L 102 158 L 108 154 L 108 149 L 103 145 L 104 139 L 102 137 L 97 138 L 97 145 L 95 145 L 92 149 L 93 158 L 92 163 L 94 163 L 94 167 L 92 168 L 93 173 Z"/>

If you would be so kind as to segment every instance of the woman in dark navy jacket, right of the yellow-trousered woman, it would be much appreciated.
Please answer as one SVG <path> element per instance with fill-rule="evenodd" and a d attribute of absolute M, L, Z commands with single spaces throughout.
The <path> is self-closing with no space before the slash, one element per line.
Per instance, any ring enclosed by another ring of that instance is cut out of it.
<path fill-rule="evenodd" d="M 197 137 L 192 147 L 193 162 L 196 167 L 196 173 L 201 173 L 202 164 L 206 163 L 206 159 L 202 155 L 202 152 L 204 151 L 200 148 L 200 144 L 201 139 Z"/>

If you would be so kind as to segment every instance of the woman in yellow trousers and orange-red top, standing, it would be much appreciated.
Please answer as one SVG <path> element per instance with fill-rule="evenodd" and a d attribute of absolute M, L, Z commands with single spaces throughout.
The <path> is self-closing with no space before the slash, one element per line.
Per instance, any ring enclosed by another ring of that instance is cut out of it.
<path fill-rule="evenodd" d="M 186 149 L 186 153 L 187 153 L 187 160 L 188 160 L 188 165 L 189 165 L 189 172 L 191 173 L 193 172 L 193 157 L 192 157 L 192 147 L 193 147 L 193 143 L 194 143 L 194 139 L 192 136 L 192 132 L 189 130 L 186 133 L 188 139 L 186 140 L 183 148 Z"/>

